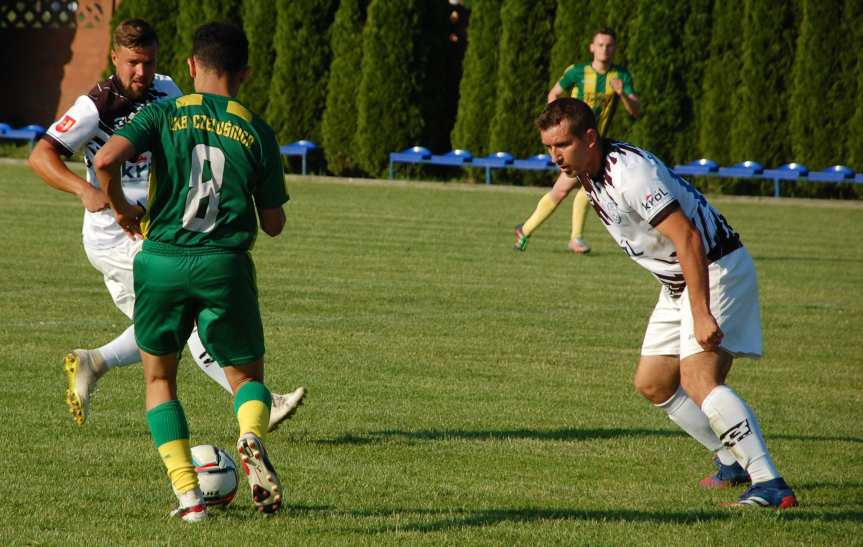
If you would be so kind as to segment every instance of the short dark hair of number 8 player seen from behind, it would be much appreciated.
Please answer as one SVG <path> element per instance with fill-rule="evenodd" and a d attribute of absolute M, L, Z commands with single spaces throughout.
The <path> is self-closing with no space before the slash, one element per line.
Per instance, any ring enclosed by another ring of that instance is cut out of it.
<path fill-rule="evenodd" d="M 192 57 L 216 72 L 236 74 L 249 63 L 249 40 L 233 23 L 206 23 L 195 31 Z"/>

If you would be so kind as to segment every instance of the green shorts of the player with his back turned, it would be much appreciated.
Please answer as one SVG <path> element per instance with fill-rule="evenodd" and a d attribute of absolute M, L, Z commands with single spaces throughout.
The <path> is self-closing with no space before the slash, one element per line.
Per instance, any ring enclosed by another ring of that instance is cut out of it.
<path fill-rule="evenodd" d="M 195 323 L 219 365 L 264 356 L 255 265 L 246 252 L 145 242 L 135 256 L 135 338 L 153 355 L 177 353 Z"/>

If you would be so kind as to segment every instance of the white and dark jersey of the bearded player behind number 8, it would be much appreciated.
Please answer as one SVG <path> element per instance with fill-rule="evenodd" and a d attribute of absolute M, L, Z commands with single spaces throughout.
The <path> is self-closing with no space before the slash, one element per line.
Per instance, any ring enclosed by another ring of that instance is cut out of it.
<path fill-rule="evenodd" d="M 111 76 L 96 84 L 87 95 L 78 97 L 75 104 L 51 124 L 44 138 L 65 156 L 71 156 L 83 148 L 87 181 L 98 187 L 93 158 L 114 131 L 126 125 L 144 106 L 180 95 L 180 89 L 170 77 L 156 74 L 144 98 L 130 101 L 120 92 L 115 77 Z M 149 176 L 149 152 L 123 165 L 121 182 L 129 203 L 140 203 L 147 207 Z M 95 213 L 85 209 L 82 235 L 88 247 L 99 249 L 113 247 L 127 237 L 110 208 Z"/>

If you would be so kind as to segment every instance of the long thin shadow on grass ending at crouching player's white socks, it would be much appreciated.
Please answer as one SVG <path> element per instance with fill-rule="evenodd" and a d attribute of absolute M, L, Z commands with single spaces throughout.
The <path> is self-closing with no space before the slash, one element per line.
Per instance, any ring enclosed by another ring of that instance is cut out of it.
<path fill-rule="evenodd" d="M 365 434 L 345 434 L 334 439 L 321 439 L 317 444 L 372 444 L 392 439 L 418 441 L 503 441 L 533 439 L 540 441 L 593 441 L 625 437 L 685 437 L 682 431 L 662 429 L 509 429 L 497 431 L 370 431 Z"/>

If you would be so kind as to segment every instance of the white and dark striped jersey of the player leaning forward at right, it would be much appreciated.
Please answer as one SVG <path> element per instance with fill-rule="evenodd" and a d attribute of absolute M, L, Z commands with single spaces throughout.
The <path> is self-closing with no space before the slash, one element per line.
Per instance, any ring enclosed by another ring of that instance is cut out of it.
<path fill-rule="evenodd" d="M 670 239 L 655 228 L 680 208 L 701 234 L 704 254 L 714 262 L 740 248 L 740 237 L 688 182 L 656 156 L 631 144 L 603 141 L 599 176 L 584 183 L 590 203 L 623 252 L 652 273 L 671 296 L 686 287 Z"/>

